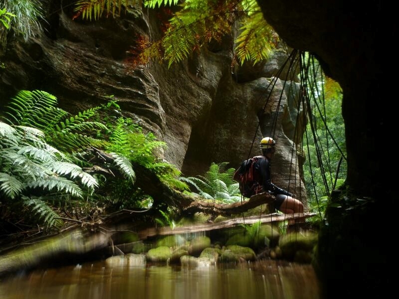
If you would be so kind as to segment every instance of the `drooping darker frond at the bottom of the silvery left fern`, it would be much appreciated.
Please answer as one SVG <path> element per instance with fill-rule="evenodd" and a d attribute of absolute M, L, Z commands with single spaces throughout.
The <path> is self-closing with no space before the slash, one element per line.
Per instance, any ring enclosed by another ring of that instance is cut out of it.
<path fill-rule="evenodd" d="M 24 206 L 30 210 L 30 214 L 37 217 L 38 220 L 41 220 L 45 228 L 50 229 L 62 224 L 62 221 L 58 219 L 60 216 L 52 210 L 46 202 L 41 200 L 42 197 L 23 196 L 22 199 Z"/>

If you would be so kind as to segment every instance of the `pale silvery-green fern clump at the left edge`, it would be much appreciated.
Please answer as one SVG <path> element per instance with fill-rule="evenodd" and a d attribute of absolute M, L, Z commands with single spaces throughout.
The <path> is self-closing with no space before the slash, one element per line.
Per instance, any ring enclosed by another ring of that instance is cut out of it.
<path fill-rule="evenodd" d="M 58 225 L 58 216 L 45 199 L 60 196 L 82 198 L 97 186 L 96 179 L 72 164 L 44 141 L 38 129 L 0 122 L 0 198 L 19 203 L 38 215 L 46 228 Z M 37 196 L 43 193 L 43 196 Z M 44 194 L 47 194 L 44 196 Z"/>

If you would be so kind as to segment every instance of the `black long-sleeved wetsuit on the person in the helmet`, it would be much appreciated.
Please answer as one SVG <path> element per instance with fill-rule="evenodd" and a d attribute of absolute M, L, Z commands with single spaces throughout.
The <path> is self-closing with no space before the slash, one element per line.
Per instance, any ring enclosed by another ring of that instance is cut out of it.
<path fill-rule="evenodd" d="M 283 201 L 286 199 L 286 196 L 292 196 L 294 194 L 284 190 L 280 187 L 277 187 L 275 184 L 271 182 L 270 175 L 270 161 L 265 156 L 258 156 L 258 160 L 255 163 L 255 171 L 259 173 L 259 184 L 262 185 L 262 192 L 269 191 L 271 194 L 276 196 L 276 200 L 274 202 L 274 207 L 279 209 Z M 279 196 L 280 195 L 280 196 Z M 284 196 L 286 195 L 286 196 Z"/>

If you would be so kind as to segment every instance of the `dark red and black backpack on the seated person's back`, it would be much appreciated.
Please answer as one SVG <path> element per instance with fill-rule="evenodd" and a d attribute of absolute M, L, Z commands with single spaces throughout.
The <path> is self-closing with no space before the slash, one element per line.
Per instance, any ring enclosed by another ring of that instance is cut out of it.
<path fill-rule="evenodd" d="M 259 156 L 254 156 L 242 161 L 240 167 L 234 172 L 233 178 L 238 182 L 241 195 L 251 197 L 263 190 L 262 184 L 259 184 L 259 173 L 254 169 Z"/>

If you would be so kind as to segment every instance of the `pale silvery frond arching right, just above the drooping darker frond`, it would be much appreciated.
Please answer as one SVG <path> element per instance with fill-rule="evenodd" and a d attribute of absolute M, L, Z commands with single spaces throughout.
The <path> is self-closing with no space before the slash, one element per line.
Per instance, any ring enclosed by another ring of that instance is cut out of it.
<path fill-rule="evenodd" d="M 56 190 L 58 192 L 64 192 L 74 197 L 83 198 L 83 191 L 73 181 L 65 177 L 57 177 L 49 175 L 42 177 L 36 181 L 31 181 L 27 184 L 29 188 L 40 188 L 49 191 Z"/>

